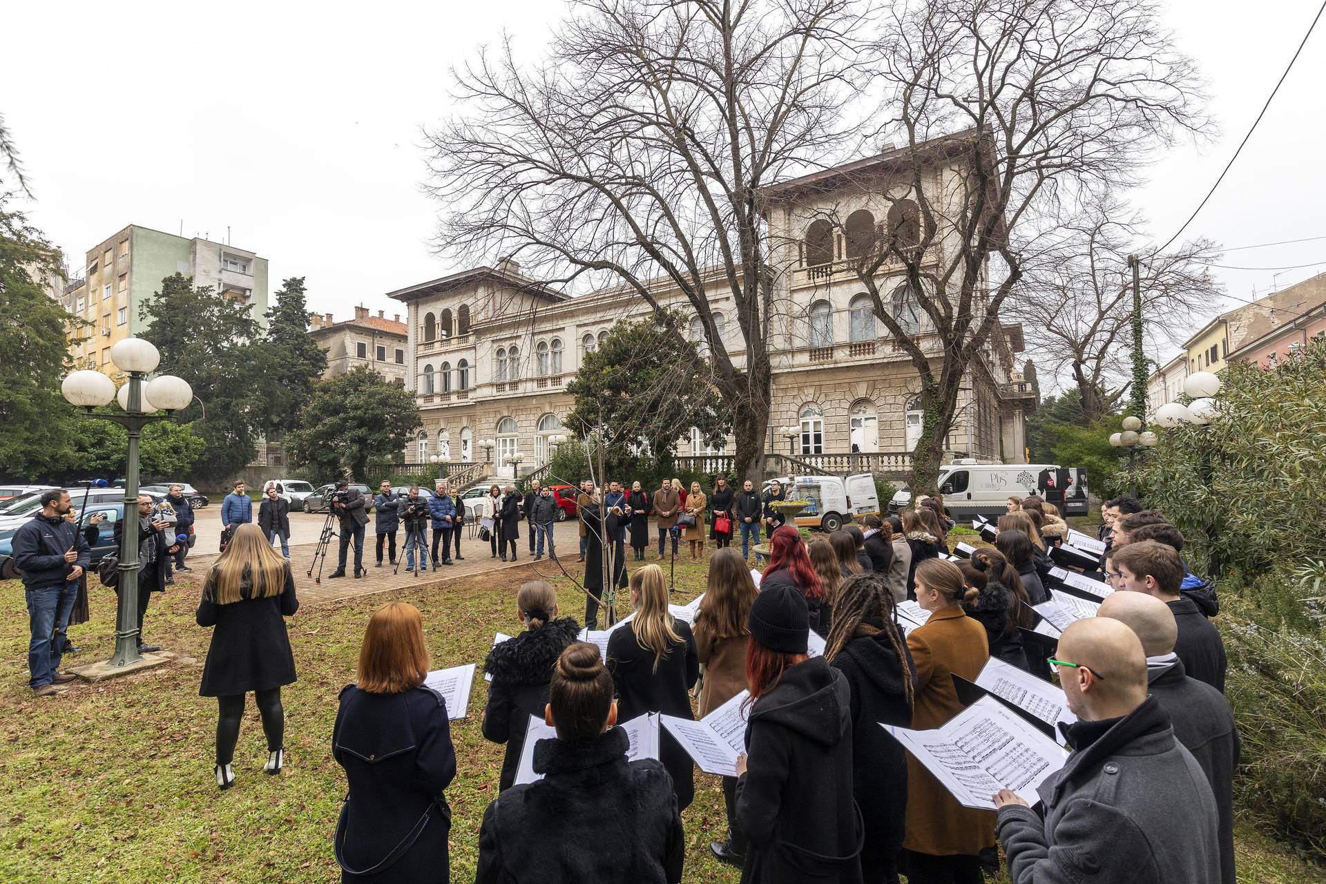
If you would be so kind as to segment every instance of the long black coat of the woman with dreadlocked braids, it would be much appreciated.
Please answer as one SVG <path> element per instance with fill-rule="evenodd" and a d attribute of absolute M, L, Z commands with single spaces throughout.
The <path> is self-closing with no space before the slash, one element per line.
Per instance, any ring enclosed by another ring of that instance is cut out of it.
<path fill-rule="evenodd" d="M 915 688 L 916 668 L 902 630 L 892 623 L 870 626 L 895 635 L 906 667 L 887 632 L 851 639 L 830 665 L 851 688 L 853 793 L 870 834 L 861 851 L 861 871 L 867 881 L 878 881 L 884 880 L 886 869 L 896 868 L 907 823 L 907 750 L 879 725 L 911 728 L 907 681 Z"/>

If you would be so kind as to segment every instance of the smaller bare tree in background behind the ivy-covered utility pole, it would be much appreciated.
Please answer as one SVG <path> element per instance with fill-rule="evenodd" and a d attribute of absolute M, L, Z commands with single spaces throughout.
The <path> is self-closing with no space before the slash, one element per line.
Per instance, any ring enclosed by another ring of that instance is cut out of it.
<path fill-rule="evenodd" d="M 1208 264 L 1219 249 L 1207 240 L 1155 253 L 1143 245 L 1142 219 L 1107 199 L 1066 224 L 1024 264 L 1022 293 L 1004 307 L 1022 323 L 1029 350 L 1057 376 L 1071 375 L 1087 420 L 1110 414 L 1126 392 L 1131 364 L 1132 270 L 1142 265 L 1142 319 L 1152 342 L 1187 338 L 1195 315 L 1219 296 Z"/>

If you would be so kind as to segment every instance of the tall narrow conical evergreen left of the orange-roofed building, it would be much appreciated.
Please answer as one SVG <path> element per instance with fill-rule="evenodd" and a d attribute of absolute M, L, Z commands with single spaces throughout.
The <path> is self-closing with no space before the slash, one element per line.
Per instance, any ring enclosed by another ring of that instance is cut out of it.
<path fill-rule="evenodd" d="M 322 347 L 309 337 L 304 277 L 281 284 L 276 306 L 267 311 L 267 429 L 272 435 L 298 427 L 300 410 L 313 396 L 313 383 L 326 371 Z"/>

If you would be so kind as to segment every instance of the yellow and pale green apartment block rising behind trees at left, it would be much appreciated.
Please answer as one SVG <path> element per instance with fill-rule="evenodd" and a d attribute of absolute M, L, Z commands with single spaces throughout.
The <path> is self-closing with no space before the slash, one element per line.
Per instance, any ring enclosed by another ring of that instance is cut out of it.
<path fill-rule="evenodd" d="M 265 322 L 267 258 L 232 245 L 130 224 L 88 249 L 82 292 L 66 290 L 62 296 L 65 309 L 82 321 L 69 333 L 74 364 L 113 371 L 110 347 L 143 330 L 139 307 L 174 273 L 248 304 L 253 318 Z"/>

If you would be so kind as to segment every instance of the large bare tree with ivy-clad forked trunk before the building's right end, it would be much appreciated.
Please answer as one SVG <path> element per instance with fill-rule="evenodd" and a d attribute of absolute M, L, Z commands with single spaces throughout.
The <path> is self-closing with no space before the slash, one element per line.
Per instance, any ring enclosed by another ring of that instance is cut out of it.
<path fill-rule="evenodd" d="M 910 168 L 857 273 L 920 375 L 912 481 L 930 488 L 963 376 L 1041 233 L 1201 130 L 1200 83 L 1146 0 L 918 0 L 895 8 L 879 50 Z M 880 292 L 902 282 L 920 323 Z"/>

